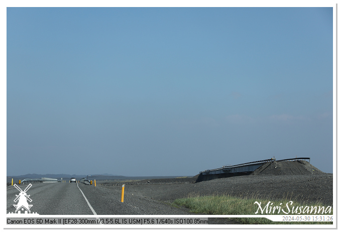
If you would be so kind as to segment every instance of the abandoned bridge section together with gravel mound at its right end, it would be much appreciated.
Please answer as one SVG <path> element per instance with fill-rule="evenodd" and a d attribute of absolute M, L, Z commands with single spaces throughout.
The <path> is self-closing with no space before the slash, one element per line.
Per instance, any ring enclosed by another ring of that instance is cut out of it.
<path fill-rule="evenodd" d="M 306 162 L 305 160 L 309 160 Z M 218 178 L 244 175 L 306 175 L 323 173 L 310 164 L 310 158 L 293 158 L 278 160 L 271 158 L 267 160 L 249 163 L 226 165 L 221 168 L 205 170 L 199 173 L 196 183 Z"/>

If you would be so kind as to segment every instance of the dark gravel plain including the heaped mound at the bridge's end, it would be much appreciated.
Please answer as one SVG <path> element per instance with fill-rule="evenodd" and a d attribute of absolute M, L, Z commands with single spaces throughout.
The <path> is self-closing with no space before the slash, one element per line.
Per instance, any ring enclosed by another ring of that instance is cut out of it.
<path fill-rule="evenodd" d="M 330 206 L 333 204 L 333 174 L 324 173 L 303 160 L 269 162 L 251 175 L 198 183 L 195 183 L 196 179 L 197 176 L 104 182 L 101 185 L 115 189 L 116 185 L 125 184 L 131 195 L 163 202 L 198 195 L 231 195 L 268 200 L 296 200 L 301 204 L 317 201 Z"/>

